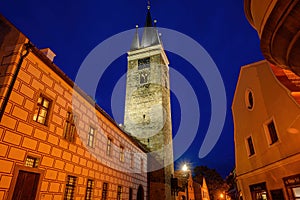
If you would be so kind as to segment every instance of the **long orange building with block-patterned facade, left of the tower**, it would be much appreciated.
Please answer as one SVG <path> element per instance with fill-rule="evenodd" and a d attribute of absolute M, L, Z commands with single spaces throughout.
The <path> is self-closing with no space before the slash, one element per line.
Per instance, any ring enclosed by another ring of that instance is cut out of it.
<path fill-rule="evenodd" d="M 0 15 L 0 199 L 138 199 L 147 150 Z"/>

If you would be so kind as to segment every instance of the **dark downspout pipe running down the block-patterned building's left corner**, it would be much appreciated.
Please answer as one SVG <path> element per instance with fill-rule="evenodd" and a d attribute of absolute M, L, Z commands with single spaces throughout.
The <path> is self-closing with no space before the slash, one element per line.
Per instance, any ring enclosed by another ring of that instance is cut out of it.
<path fill-rule="evenodd" d="M 19 74 L 19 71 L 20 71 L 20 69 L 22 67 L 22 63 L 23 63 L 24 59 L 26 58 L 26 56 L 28 56 L 31 47 L 32 47 L 32 44 L 30 42 L 24 44 L 23 50 L 20 53 L 21 57 L 20 57 L 19 62 L 17 64 L 17 69 L 15 70 L 15 73 L 14 73 L 14 75 L 12 77 L 12 80 L 11 80 L 11 84 L 9 84 L 8 90 L 6 92 L 6 95 L 4 96 L 3 104 L 1 106 L 1 110 L 0 110 L 0 122 L 1 122 L 2 117 L 4 115 L 5 108 L 7 106 L 8 100 L 10 98 L 11 92 L 12 92 L 12 90 L 14 88 L 15 82 L 16 82 L 18 74 Z M 24 53 L 24 51 L 25 51 L 25 53 Z"/>

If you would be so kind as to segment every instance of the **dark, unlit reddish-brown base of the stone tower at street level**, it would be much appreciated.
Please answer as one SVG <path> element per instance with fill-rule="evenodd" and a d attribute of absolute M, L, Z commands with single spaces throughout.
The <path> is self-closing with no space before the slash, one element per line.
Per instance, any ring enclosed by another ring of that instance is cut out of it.
<path fill-rule="evenodd" d="M 161 162 L 155 158 L 148 159 L 148 185 L 149 185 L 149 200 L 175 200 L 175 196 L 172 196 L 171 192 L 171 177 L 174 174 L 173 163 L 167 166 L 161 166 L 157 169 L 157 166 Z M 151 167 L 154 167 L 152 168 Z"/>

